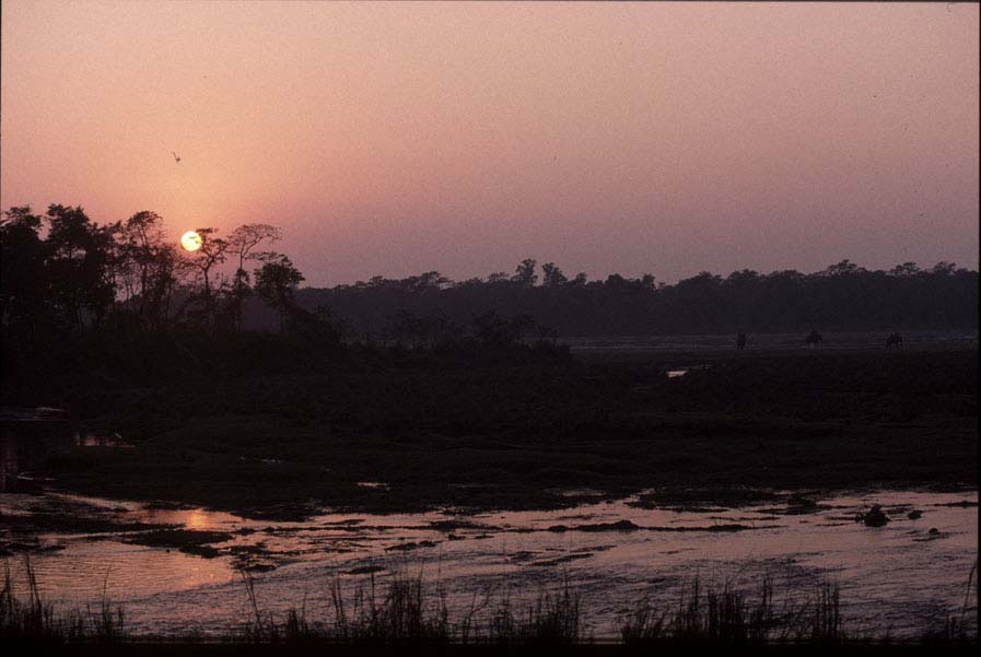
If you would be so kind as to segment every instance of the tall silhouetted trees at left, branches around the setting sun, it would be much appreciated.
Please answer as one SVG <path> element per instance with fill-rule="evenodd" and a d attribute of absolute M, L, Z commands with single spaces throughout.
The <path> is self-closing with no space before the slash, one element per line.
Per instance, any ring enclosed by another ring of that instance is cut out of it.
<path fill-rule="evenodd" d="M 7 338 L 241 331 L 252 296 L 276 310 L 282 325 L 311 316 L 293 303 L 303 274 L 289 257 L 268 249 L 280 239 L 279 228 L 268 224 L 246 224 L 227 237 L 198 228 L 197 249 L 185 251 L 167 238 L 154 212 L 103 225 L 80 207 L 60 204 L 44 215 L 30 207 L 3 215 L 0 320 Z"/>

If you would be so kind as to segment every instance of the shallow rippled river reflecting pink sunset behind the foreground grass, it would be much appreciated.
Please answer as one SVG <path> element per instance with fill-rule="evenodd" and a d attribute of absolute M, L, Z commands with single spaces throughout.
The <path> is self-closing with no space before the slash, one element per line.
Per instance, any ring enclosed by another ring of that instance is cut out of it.
<path fill-rule="evenodd" d="M 506 585 L 519 599 L 568 579 L 583 593 L 584 613 L 599 637 L 615 636 L 619 614 L 641 597 L 676 603 L 696 574 L 750 593 L 769 575 L 778 595 L 809 593 L 830 579 L 841 586 L 850 626 L 902 637 L 960 612 L 977 560 L 977 492 L 874 491 L 814 496 L 805 505 L 784 495 L 735 509 L 644 508 L 640 502 L 557 512 L 325 513 L 279 523 L 49 494 L 2 495 L 0 513 L 83 504 L 120 523 L 223 532 L 210 543 L 219 550 L 214 559 L 130 544 L 139 535 L 132 531 L 37 537 L 63 548 L 32 555 L 46 594 L 84 603 L 98 599 L 105 585 L 108 597 L 125 605 L 128 625 L 144 633 L 222 633 L 244 622 L 240 567 L 254 568 L 265 609 L 305 603 L 311 615 L 325 618 L 331 577 L 351 590 L 365 584 L 363 573 L 375 571 L 381 582 L 392 568 L 408 567 L 422 568 L 433 584 L 439 579 L 457 610 L 480 590 Z M 885 527 L 855 521 L 873 504 L 889 515 Z M 11 564 L 15 568 L 16 558 Z M 977 600 L 970 606 L 977 610 Z"/>

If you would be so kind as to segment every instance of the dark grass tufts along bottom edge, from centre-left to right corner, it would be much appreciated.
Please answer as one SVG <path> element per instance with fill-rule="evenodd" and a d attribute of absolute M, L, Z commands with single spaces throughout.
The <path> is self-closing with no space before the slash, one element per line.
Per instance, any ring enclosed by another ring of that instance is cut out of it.
<path fill-rule="evenodd" d="M 312 623 L 305 611 L 291 609 L 285 621 L 258 612 L 250 578 L 244 575 L 256 620 L 246 626 L 253 642 L 319 641 L 339 644 L 428 645 L 571 645 L 592 643 L 586 632 L 583 597 L 569 582 L 552 591 L 539 591 L 532 601 L 515 603 L 505 593 L 495 601 L 474 595 L 469 609 L 453 621 L 446 596 L 437 583 L 430 590 L 422 577 L 393 572 L 385 591 L 372 575 L 370 584 L 344 595 L 340 577 L 328 583 L 330 611 Z M 951 617 L 953 618 L 953 617 Z M 923 633 L 921 641 L 977 643 L 960 624 L 948 621 L 943 632 Z M 635 602 L 622 617 L 619 643 L 628 647 L 661 644 L 715 645 L 845 645 L 889 641 L 845 631 L 837 584 L 821 582 L 803 596 L 774 600 L 769 577 L 757 596 L 729 584 L 705 586 L 696 577 L 674 606 L 658 608 L 650 599 Z"/>

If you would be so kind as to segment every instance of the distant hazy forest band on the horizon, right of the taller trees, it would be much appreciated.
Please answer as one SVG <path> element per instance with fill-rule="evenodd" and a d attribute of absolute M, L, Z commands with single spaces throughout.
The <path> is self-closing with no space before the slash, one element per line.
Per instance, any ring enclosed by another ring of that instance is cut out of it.
<path fill-rule="evenodd" d="M 514 274 L 454 282 L 439 272 L 297 291 L 296 303 L 326 305 L 352 335 L 425 342 L 463 330 L 490 312 L 530 316 L 561 336 L 794 332 L 817 330 L 950 330 L 978 328 L 978 272 L 938 262 L 888 271 L 843 260 L 805 274 L 709 272 L 673 285 L 653 275 L 567 277 L 552 262 L 524 260 Z M 272 318 L 250 308 L 252 326 Z M 550 333 L 549 333 L 550 335 Z"/>

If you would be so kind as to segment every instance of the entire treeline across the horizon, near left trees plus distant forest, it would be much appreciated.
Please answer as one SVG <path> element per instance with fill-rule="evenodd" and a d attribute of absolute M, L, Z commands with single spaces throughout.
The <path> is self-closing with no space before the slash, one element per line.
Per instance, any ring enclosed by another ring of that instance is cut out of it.
<path fill-rule="evenodd" d="M 82 208 L 0 221 L 4 354 L 37 353 L 68 337 L 199 332 L 303 333 L 317 343 L 435 348 L 554 344 L 559 337 L 977 329 L 978 272 L 939 262 L 869 271 L 849 260 L 816 273 L 709 272 L 664 284 L 651 274 L 568 277 L 533 259 L 513 273 L 454 282 L 436 271 L 330 289 L 301 289 L 290 258 L 271 250 L 279 228 L 246 224 L 200 249 L 167 237 L 139 212 L 100 225 Z M 136 342 L 133 342 L 136 343 Z"/>

